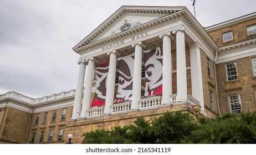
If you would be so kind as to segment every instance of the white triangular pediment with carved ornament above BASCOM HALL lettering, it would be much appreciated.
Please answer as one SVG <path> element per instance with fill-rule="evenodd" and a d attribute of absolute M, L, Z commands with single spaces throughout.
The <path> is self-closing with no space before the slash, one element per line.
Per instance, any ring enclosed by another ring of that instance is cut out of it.
<path fill-rule="evenodd" d="M 167 16 L 168 14 L 176 13 L 184 8 L 185 7 L 122 6 L 107 18 L 105 22 L 100 24 L 98 28 L 74 46 L 73 50 L 112 35 L 122 33 L 127 29 L 149 23 L 152 20 Z"/>

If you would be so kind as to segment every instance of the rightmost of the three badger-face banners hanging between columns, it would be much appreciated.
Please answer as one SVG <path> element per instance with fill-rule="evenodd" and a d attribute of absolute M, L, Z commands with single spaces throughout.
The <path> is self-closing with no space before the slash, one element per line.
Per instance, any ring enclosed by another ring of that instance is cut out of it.
<path fill-rule="evenodd" d="M 144 96 L 162 94 L 163 54 L 161 48 L 144 50 L 146 86 Z"/>

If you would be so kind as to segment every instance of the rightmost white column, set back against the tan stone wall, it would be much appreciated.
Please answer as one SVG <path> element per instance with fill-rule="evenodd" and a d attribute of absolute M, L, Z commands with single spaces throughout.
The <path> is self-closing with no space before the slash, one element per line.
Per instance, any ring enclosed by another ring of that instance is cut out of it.
<path fill-rule="evenodd" d="M 191 85 L 192 96 L 200 102 L 201 110 L 204 112 L 203 101 L 203 77 L 201 68 L 201 55 L 198 43 L 190 46 L 190 63 L 191 63 Z"/>

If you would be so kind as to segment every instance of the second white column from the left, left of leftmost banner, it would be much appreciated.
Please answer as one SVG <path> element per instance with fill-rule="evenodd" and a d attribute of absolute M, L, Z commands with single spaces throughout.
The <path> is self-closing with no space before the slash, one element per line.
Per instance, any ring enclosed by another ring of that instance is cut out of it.
<path fill-rule="evenodd" d="M 87 75 L 85 80 L 84 100 L 83 100 L 83 106 L 82 106 L 82 111 L 80 116 L 82 118 L 86 117 L 86 110 L 89 109 L 91 104 L 91 89 L 93 87 L 93 76 L 94 76 L 93 71 L 94 71 L 95 61 L 96 60 L 94 58 L 86 59 L 86 62 L 88 62 L 88 70 L 87 70 Z"/>

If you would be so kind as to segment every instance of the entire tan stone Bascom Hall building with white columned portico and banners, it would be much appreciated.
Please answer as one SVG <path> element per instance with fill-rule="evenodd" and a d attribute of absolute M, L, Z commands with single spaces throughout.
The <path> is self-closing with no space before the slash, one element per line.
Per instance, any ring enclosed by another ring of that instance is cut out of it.
<path fill-rule="evenodd" d="M 0 95 L 0 143 L 81 143 L 166 111 L 254 112 L 255 42 L 256 13 L 203 28 L 186 7 L 122 6 L 74 46 L 75 90 Z"/>

